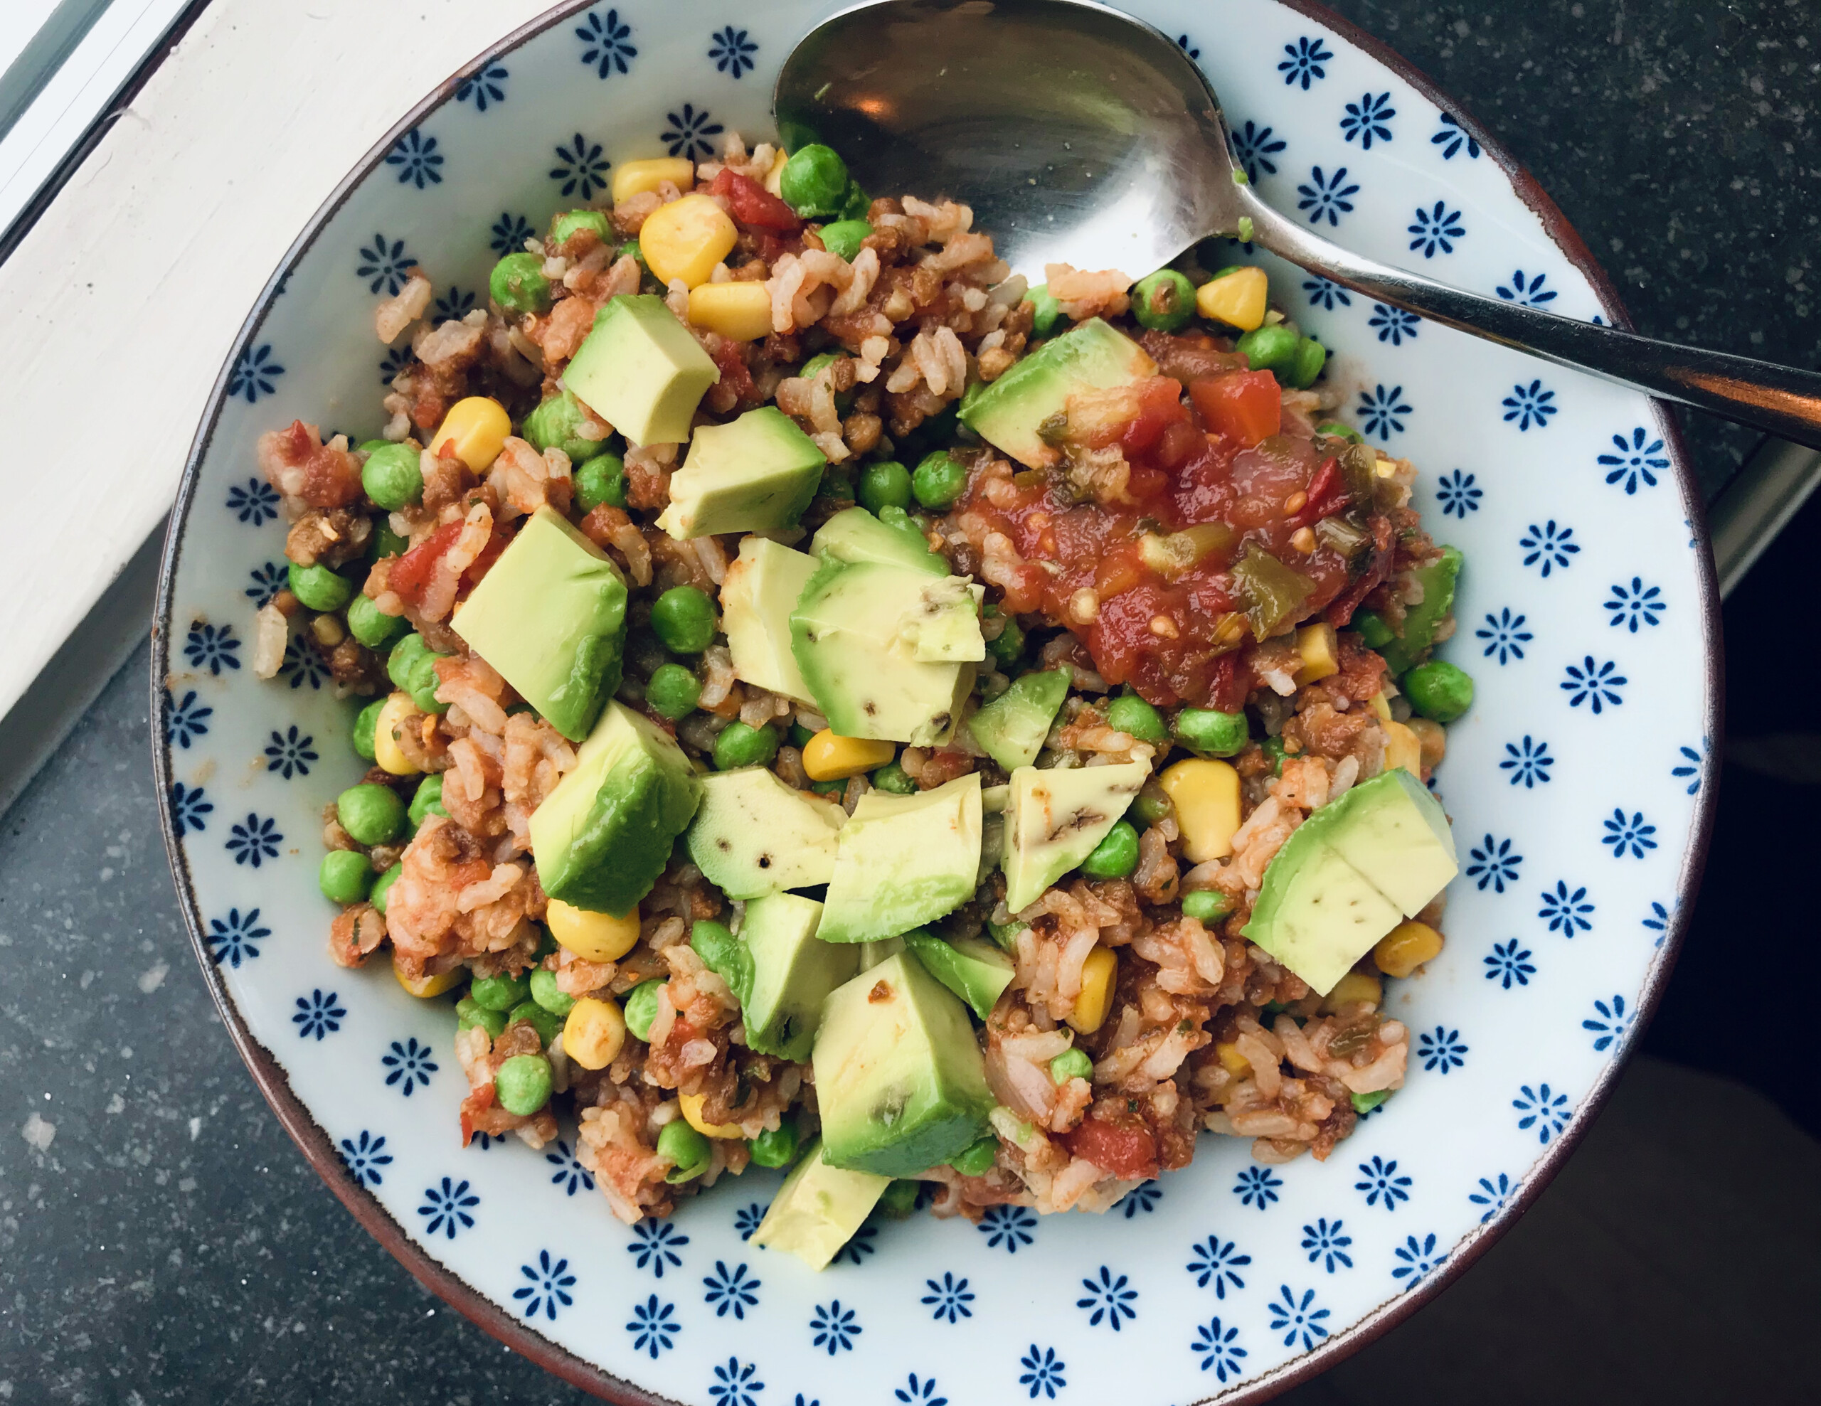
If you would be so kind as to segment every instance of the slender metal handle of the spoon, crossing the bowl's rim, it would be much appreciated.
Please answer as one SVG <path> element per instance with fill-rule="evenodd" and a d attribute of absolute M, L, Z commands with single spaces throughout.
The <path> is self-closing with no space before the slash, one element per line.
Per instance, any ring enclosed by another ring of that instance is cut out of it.
<path fill-rule="evenodd" d="M 1271 209 L 1251 189 L 1240 195 L 1253 220 L 1253 242 L 1311 273 L 1557 366 L 1821 448 L 1821 375 L 1816 372 L 1659 342 L 1635 331 L 1464 293 L 1349 253 Z"/>

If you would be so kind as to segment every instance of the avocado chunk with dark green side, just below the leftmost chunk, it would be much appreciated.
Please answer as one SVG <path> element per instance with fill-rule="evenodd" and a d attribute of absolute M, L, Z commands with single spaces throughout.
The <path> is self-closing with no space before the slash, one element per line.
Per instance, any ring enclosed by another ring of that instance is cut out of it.
<path fill-rule="evenodd" d="M 696 772 L 670 734 L 610 701 L 575 770 L 532 812 L 532 856 L 550 898 L 623 918 L 652 891 L 696 814 Z"/>

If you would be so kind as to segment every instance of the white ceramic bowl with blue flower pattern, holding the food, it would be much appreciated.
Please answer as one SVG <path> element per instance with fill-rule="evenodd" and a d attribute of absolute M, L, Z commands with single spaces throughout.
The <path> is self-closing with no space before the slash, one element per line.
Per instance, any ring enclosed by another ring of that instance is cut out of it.
<path fill-rule="evenodd" d="M 326 953 L 319 814 L 362 767 L 310 648 L 273 683 L 248 668 L 284 559 L 253 441 L 293 417 L 375 433 L 392 362 L 371 310 L 402 270 L 464 310 L 612 162 L 768 135 L 772 73 L 829 9 L 565 5 L 443 84 L 299 237 L 215 388 L 166 554 L 155 750 L 178 892 L 242 1054 L 335 1193 L 574 1382 L 697 1406 L 1256 1399 L 1382 1331 L 1517 1217 L 1673 954 L 1710 814 L 1717 627 L 1699 497 L 1641 395 L 1271 268 L 1335 348 L 1351 419 L 1417 461 L 1431 532 L 1466 552 L 1444 654 L 1479 681 L 1439 778 L 1464 869 L 1448 951 L 1393 985 L 1419 1033 L 1409 1080 L 1326 1164 L 1267 1169 L 1204 1136 L 1193 1167 L 1105 1217 L 923 1215 L 812 1275 L 747 1242 L 776 1173 L 626 1229 L 574 1133 L 461 1149 L 446 1004 Z M 1533 182 L 1335 16 L 1133 9 L 1206 66 L 1278 208 L 1466 288 L 1623 319 Z"/>

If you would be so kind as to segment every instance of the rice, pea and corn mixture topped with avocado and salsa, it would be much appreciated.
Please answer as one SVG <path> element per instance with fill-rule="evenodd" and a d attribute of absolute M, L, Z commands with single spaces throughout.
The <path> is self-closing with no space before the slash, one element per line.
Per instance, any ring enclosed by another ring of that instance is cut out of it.
<path fill-rule="evenodd" d="M 1460 557 L 1262 270 L 1029 288 L 732 138 L 490 293 L 377 308 L 382 437 L 259 444 L 255 668 L 304 632 L 364 703 L 330 953 L 450 1005 L 464 1142 L 575 1118 L 626 1222 L 796 1166 L 759 1240 L 819 1266 L 920 1189 L 1326 1158 L 1402 1085 Z"/>

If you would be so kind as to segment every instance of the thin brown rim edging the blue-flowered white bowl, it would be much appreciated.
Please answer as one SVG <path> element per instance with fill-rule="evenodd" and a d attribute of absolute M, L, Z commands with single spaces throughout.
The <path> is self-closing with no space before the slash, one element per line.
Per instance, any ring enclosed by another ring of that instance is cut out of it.
<path fill-rule="evenodd" d="M 410 113 L 406 113 L 393 127 L 388 131 L 361 162 L 342 178 L 322 208 L 311 217 L 304 233 L 291 244 L 284 259 L 279 262 L 277 271 L 266 282 L 260 291 L 253 311 L 248 315 L 240 328 L 239 337 L 233 346 L 239 350 L 249 337 L 253 337 L 266 319 L 271 308 L 273 293 L 284 280 L 286 273 L 297 264 L 306 250 L 317 240 L 322 226 L 335 215 L 337 209 L 348 200 L 355 186 L 359 186 L 379 164 L 384 162 L 386 153 L 393 144 L 412 127 L 419 126 L 430 113 L 444 106 L 455 89 L 470 76 L 479 73 L 483 67 L 501 58 L 503 55 L 517 49 L 526 40 L 544 33 L 546 29 L 563 24 L 570 16 L 588 9 L 597 0 L 565 0 L 565 4 L 546 11 L 530 24 L 506 35 L 497 44 L 490 46 L 484 53 L 475 56 L 470 64 L 463 66 L 453 76 L 446 78 L 435 87 L 422 102 L 415 104 Z M 1415 87 L 1422 97 L 1433 102 L 1439 109 L 1448 113 L 1460 124 L 1460 131 L 1470 140 L 1479 142 L 1480 151 L 1491 157 L 1493 162 L 1504 169 L 1517 191 L 1519 199 L 1535 211 L 1537 219 L 1542 220 L 1544 231 L 1555 242 L 1555 246 L 1568 257 L 1568 260 L 1588 279 L 1593 291 L 1599 295 L 1601 308 L 1604 310 L 1608 321 L 1613 326 L 1630 328 L 1632 319 L 1619 301 L 1619 290 L 1613 286 L 1612 279 L 1593 259 L 1586 242 L 1568 222 L 1557 204 L 1544 193 L 1542 186 L 1537 184 L 1535 177 L 1530 175 L 1488 131 L 1475 120 L 1466 109 L 1460 107 L 1451 97 L 1448 97 L 1440 87 L 1437 87 L 1426 75 L 1419 73 L 1408 60 L 1404 60 L 1397 51 L 1371 35 L 1357 29 L 1351 22 L 1340 18 L 1331 9 L 1315 0 L 1277 0 L 1287 9 L 1307 16 L 1311 22 L 1331 31 L 1348 44 L 1357 46 L 1371 58 L 1384 64 L 1388 69 L 1397 73 L 1399 78 Z M 233 370 L 233 353 L 222 364 L 220 373 L 215 379 L 215 388 L 209 393 L 208 410 L 204 413 L 202 424 L 197 430 L 195 443 L 191 444 L 189 457 L 184 463 L 184 477 L 178 486 L 177 503 L 171 512 L 171 526 L 166 534 L 164 559 L 158 570 L 158 603 L 153 616 L 151 632 L 151 732 L 153 732 L 153 776 L 158 785 L 158 794 L 168 796 L 171 785 L 171 761 L 169 745 L 164 738 L 164 718 L 162 718 L 162 690 L 164 681 L 169 672 L 169 639 L 171 639 L 171 586 L 177 577 L 177 565 L 182 555 L 182 526 L 189 517 L 191 499 L 197 490 L 197 477 L 202 464 L 202 457 L 208 452 L 209 441 L 213 439 L 215 426 L 220 421 L 220 412 L 226 402 L 228 377 Z M 1655 419 L 1657 432 L 1663 435 L 1663 443 L 1670 450 L 1670 461 L 1675 470 L 1675 486 L 1683 497 L 1683 508 L 1688 514 L 1688 523 L 1697 535 L 1706 535 L 1706 512 L 1701 501 L 1701 494 L 1695 486 L 1694 475 L 1688 468 L 1688 448 L 1683 443 L 1681 428 L 1677 426 L 1673 415 L 1661 401 L 1652 402 L 1652 415 Z M 1708 641 L 1703 657 L 1703 683 L 1706 692 L 1706 736 L 1719 738 L 1723 723 L 1723 701 L 1721 701 L 1721 614 L 1719 614 L 1719 588 L 1714 576 L 1712 554 L 1703 552 L 1699 557 L 1701 574 L 1701 623 Z M 1304 1382 L 1311 1377 L 1320 1375 L 1328 1368 L 1335 1366 L 1344 1357 L 1353 1355 L 1369 1342 L 1378 1340 L 1386 1331 L 1395 1328 L 1399 1322 L 1408 1319 L 1417 1308 L 1429 1302 L 1437 1293 L 1440 1293 L 1448 1284 L 1451 1284 L 1473 1260 L 1477 1260 L 1493 1240 L 1499 1238 L 1542 1193 L 1550 1184 L 1550 1178 L 1561 1169 L 1562 1160 L 1573 1151 L 1575 1144 L 1582 1138 L 1586 1129 L 1592 1126 L 1593 1118 L 1604 1107 L 1606 1098 L 1612 1093 L 1612 1085 L 1619 1076 L 1621 1067 L 1626 1058 L 1630 1058 L 1632 1047 L 1643 1034 L 1644 1027 L 1650 1024 L 1650 1016 L 1657 1009 L 1657 1002 L 1663 998 L 1663 989 L 1668 983 L 1670 969 L 1675 965 L 1675 954 L 1681 949 L 1683 936 L 1686 932 L 1688 916 L 1694 909 L 1694 894 L 1701 883 L 1701 869 L 1706 863 L 1708 838 L 1714 829 L 1714 792 L 1712 785 L 1703 789 L 1697 801 L 1695 827 L 1688 851 L 1683 856 L 1683 869 L 1677 883 L 1677 902 L 1670 914 L 1668 929 L 1664 932 L 1663 949 L 1657 956 L 1650 976 L 1644 982 L 1644 989 L 1639 996 L 1637 1014 L 1639 1020 L 1632 1024 L 1619 1053 L 1608 1062 L 1601 1076 L 1595 1080 L 1593 1089 L 1581 1104 L 1575 1107 L 1568 1127 L 1550 1144 L 1542 1158 L 1531 1167 L 1522 1182 L 1519 1193 L 1504 1204 L 1504 1207 L 1493 1215 L 1488 1222 L 1475 1228 L 1468 1237 L 1455 1246 L 1450 1253 L 1448 1262 L 1442 1269 L 1433 1273 L 1422 1284 L 1413 1289 L 1406 1289 L 1391 1299 L 1386 1299 L 1378 1308 L 1368 1313 L 1360 1322 L 1338 1333 L 1337 1337 L 1326 1340 L 1320 1348 L 1286 1362 L 1282 1368 L 1266 1373 L 1258 1381 L 1247 1382 L 1231 1393 L 1216 1393 L 1215 1397 L 1204 1397 L 1202 1401 L 1227 1401 L 1227 1402 L 1262 1402 L 1275 1397 L 1287 1388 Z M 355 1220 L 366 1228 L 366 1231 L 379 1240 L 392 1255 L 397 1258 L 426 1289 L 435 1293 L 439 1299 L 453 1306 L 470 1322 L 492 1333 L 495 1339 L 504 1342 L 517 1353 L 532 1359 L 544 1370 L 555 1373 L 572 1386 L 579 1386 L 606 1401 L 619 1402 L 619 1406 L 676 1406 L 665 1397 L 656 1397 L 643 1388 L 621 1381 L 606 1371 L 601 1371 L 592 1362 L 585 1362 L 581 1357 L 559 1348 L 543 1335 L 532 1331 L 510 1313 L 495 1306 L 490 1299 L 483 1297 L 477 1289 L 470 1288 L 461 1277 L 443 1268 L 433 1260 L 424 1249 L 421 1249 L 399 1226 L 397 1220 L 373 1198 L 373 1195 L 361 1186 L 348 1171 L 348 1164 L 342 1160 L 341 1153 L 335 1151 L 333 1140 L 322 1127 L 310 1116 L 304 1104 L 291 1093 L 290 1080 L 270 1053 L 253 1038 L 246 1024 L 240 1020 L 240 1013 L 235 1009 L 233 1002 L 228 998 L 228 989 L 222 982 L 220 971 L 209 958 L 208 945 L 202 938 L 202 916 L 197 909 L 195 891 L 189 881 L 189 867 L 184 860 L 182 845 L 171 832 L 171 814 L 169 807 L 160 805 L 158 823 L 164 832 L 164 849 L 171 861 L 171 874 L 177 880 L 177 900 L 184 912 L 184 923 L 189 929 L 189 943 L 195 949 L 197 962 L 202 965 L 204 980 L 208 982 L 209 994 L 215 998 L 215 1007 L 220 1011 L 222 1024 L 228 1027 L 233 1038 L 235 1049 L 240 1051 L 240 1058 L 246 1062 L 248 1071 L 253 1075 L 253 1082 L 259 1091 L 271 1104 L 273 1111 L 279 1115 L 279 1122 L 284 1131 L 291 1135 L 291 1140 L 302 1151 L 304 1158 L 315 1167 L 317 1175 L 328 1184 L 330 1191 L 348 1207 Z"/>

